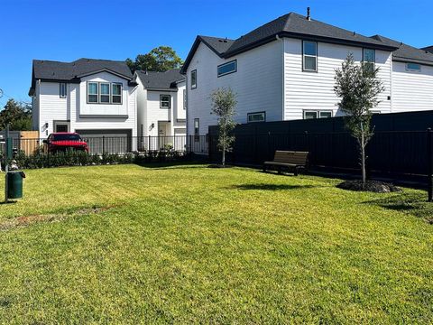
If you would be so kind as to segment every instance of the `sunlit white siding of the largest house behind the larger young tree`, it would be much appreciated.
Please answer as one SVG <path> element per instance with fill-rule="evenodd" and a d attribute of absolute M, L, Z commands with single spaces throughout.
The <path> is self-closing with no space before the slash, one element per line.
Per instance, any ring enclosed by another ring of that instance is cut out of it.
<path fill-rule="evenodd" d="M 355 60 L 362 60 L 362 48 L 318 42 L 318 72 L 302 71 L 302 41 L 284 39 L 284 119 L 303 118 L 303 111 L 332 110 L 338 116 L 334 92 L 336 69 L 341 67 L 348 53 L 353 53 Z M 391 52 L 375 51 L 376 67 L 380 68 L 385 91 L 380 95 L 381 103 L 377 110 L 382 113 L 391 111 Z"/>

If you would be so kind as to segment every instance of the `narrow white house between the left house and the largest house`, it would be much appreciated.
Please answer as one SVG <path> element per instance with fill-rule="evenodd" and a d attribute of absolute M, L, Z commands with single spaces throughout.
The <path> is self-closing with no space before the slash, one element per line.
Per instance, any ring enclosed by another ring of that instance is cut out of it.
<path fill-rule="evenodd" d="M 179 69 L 135 71 L 138 135 L 186 135 L 185 76 Z"/>

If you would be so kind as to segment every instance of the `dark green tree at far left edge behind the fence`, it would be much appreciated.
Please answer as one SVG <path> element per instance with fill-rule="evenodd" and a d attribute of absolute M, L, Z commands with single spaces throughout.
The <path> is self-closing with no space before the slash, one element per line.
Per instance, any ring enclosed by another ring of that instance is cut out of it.
<path fill-rule="evenodd" d="M 32 107 L 9 99 L 0 111 L 0 130 L 9 125 L 11 131 L 32 130 Z"/>

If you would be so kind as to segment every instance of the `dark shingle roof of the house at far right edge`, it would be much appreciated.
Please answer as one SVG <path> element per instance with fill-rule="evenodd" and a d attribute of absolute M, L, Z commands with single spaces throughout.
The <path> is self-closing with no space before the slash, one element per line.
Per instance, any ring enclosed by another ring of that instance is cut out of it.
<path fill-rule="evenodd" d="M 398 48 L 392 52 L 392 60 L 433 65 L 433 53 L 430 53 L 427 50 L 420 50 L 382 35 L 374 35 L 372 38 Z"/>

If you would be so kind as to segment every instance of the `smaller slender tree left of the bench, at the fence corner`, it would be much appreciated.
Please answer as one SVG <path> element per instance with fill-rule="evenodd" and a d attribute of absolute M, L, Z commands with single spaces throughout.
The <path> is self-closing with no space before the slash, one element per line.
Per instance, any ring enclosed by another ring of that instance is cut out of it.
<path fill-rule="evenodd" d="M 235 128 L 236 94 L 231 88 L 217 88 L 210 95 L 212 108 L 210 114 L 218 116 L 218 149 L 223 153 L 222 164 L 226 166 L 226 152 L 232 150 L 235 136 L 232 131 Z"/>

